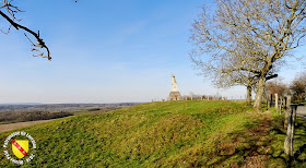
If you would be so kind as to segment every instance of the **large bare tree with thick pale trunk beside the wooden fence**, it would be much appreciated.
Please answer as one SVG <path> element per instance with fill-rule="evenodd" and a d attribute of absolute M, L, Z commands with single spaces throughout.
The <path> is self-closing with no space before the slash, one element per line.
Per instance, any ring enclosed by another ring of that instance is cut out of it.
<path fill-rule="evenodd" d="M 305 41 L 306 0 L 215 0 L 215 4 L 214 11 L 204 7 L 192 25 L 191 58 L 207 73 L 212 65 L 220 73 L 251 73 L 257 79 L 254 106 L 261 109 L 266 82 Z M 239 61 L 223 65 L 233 59 Z"/>

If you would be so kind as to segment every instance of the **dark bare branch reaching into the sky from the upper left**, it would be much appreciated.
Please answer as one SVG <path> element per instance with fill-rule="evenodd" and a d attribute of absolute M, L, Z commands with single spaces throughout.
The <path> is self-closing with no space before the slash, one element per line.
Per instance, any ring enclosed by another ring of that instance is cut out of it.
<path fill-rule="evenodd" d="M 33 55 L 34 57 L 43 57 L 47 58 L 48 60 L 51 60 L 50 57 L 50 50 L 45 44 L 44 39 L 40 37 L 39 31 L 35 32 L 19 22 L 21 19 L 17 19 L 16 15 L 19 13 L 22 13 L 22 11 L 17 5 L 14 5 L 13 0 L 2 0 L 0 1 L 0 15 L 7 20 L 10 24 L 7 31 L 0 29 L 4 34 L 9 34 L 11 28 L 15 29 L 23 29 L 24 31 L 24 36 L 28 39 L 28 41 L 32 44 L 33 48 L 31 49 L 32 51 L 36 51 L 36 55 Z M 76 0 L 75 0 L 76 2 Z M 42 49 L 46 50 L 46 53 L 42 51 Z"/>

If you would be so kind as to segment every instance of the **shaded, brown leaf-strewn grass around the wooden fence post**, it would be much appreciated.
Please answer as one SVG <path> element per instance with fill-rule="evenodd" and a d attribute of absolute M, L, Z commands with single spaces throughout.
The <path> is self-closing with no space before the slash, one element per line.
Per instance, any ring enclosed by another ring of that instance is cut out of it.
<path fill-rule="evenodd" d="M 305 167 L 306 166 L 306 122 L 299 120 L 296 127 L 297 152 L 293 159 L 284 154 L 285 130 L 283 122 L 263 118 L 257 123 L 248 123 L 246 130 L 227 134 L 227 143 L 216 144 L 219 159 L 210 166 L 246 166 L 246 167 Z M 243 157 L 243 159 L 237 159 Z M 228 165 L 228 163 L 232 164 Z M 237 163 L 238 160 L 238 163 Z M 239 161 L 243 160 L 243 161 Z M 236 161 L 236 163 L 235 163 Z"/>

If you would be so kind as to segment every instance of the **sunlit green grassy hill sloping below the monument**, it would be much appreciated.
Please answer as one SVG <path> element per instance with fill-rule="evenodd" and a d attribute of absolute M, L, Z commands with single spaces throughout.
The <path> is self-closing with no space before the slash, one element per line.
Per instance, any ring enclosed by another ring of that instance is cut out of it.
<path fill-rule="evenodd" d="M 231 101 L 142 104 L 23 131 L 37 143 L 34 160 L 24 166 L 285 166 L 281 117 Z M 0 134 L 1 146 L 12 132 Z M 297 147 L 306 132 L 299 134 Z M 7 165 L 14 166 L 0 155 L 0 166 Z"/>

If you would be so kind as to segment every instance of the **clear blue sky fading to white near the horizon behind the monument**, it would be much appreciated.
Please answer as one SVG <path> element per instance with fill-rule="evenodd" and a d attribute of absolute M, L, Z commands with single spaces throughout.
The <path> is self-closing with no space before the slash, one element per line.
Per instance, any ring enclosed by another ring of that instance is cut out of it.
<path fill-rule="evenodd" d="M 189 60 L 190 25 L 204 3 L 211 1 L 14 1 L 52 61 L 33 58 L 23 32 L 0 34 L 0 104 L 150 101 L 167 97 L 172 73 L 183 95 L 244 97 L 244 87 L 214 88 Z M 290 81 L 302 70 L 292 65 L 280 75 Z"/>

